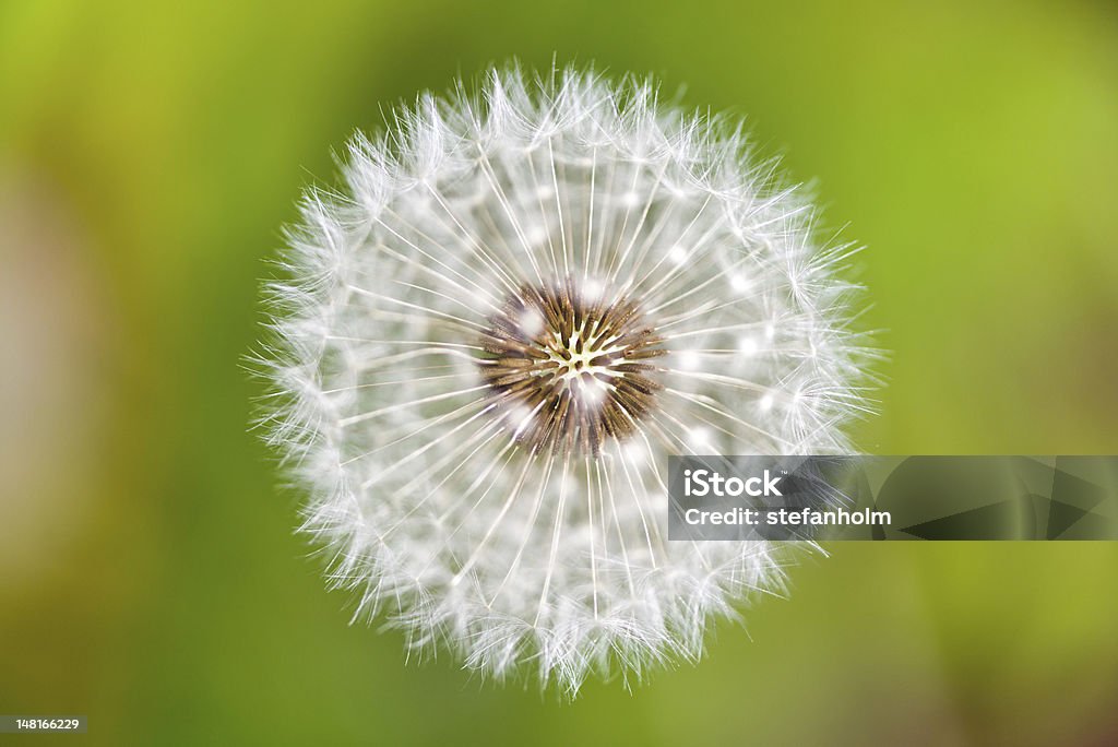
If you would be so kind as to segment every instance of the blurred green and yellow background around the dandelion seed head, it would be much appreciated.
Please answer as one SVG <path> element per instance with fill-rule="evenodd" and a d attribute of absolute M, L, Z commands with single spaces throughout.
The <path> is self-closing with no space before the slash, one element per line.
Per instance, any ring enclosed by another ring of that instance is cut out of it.
<path fill-rule="evenodd" d="M 699 666 L 574 705 L 349 625 L 246 427 L 258 280 L 354 127 L 512 56 L 655 73 L 817 178 L 892 352 L 865 451 L 1118 453 L 1111 3 L 9 0 L 0 712 L 105 745 L 1118 743 L 1118 543 L 835 545 Z"/>

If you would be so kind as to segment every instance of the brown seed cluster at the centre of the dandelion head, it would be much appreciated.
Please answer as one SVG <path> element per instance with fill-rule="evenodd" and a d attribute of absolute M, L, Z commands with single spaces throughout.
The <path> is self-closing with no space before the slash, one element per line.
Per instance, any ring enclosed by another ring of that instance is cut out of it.
<path fill-rule="evenodd" d="M 666 351 L 637 304 L 574 280 L 522 285 L 489 319 L 479 360 L 490 396 L 533 453 L 597 456 L 631 435 L 663 387 L 648 361 Z"/>

